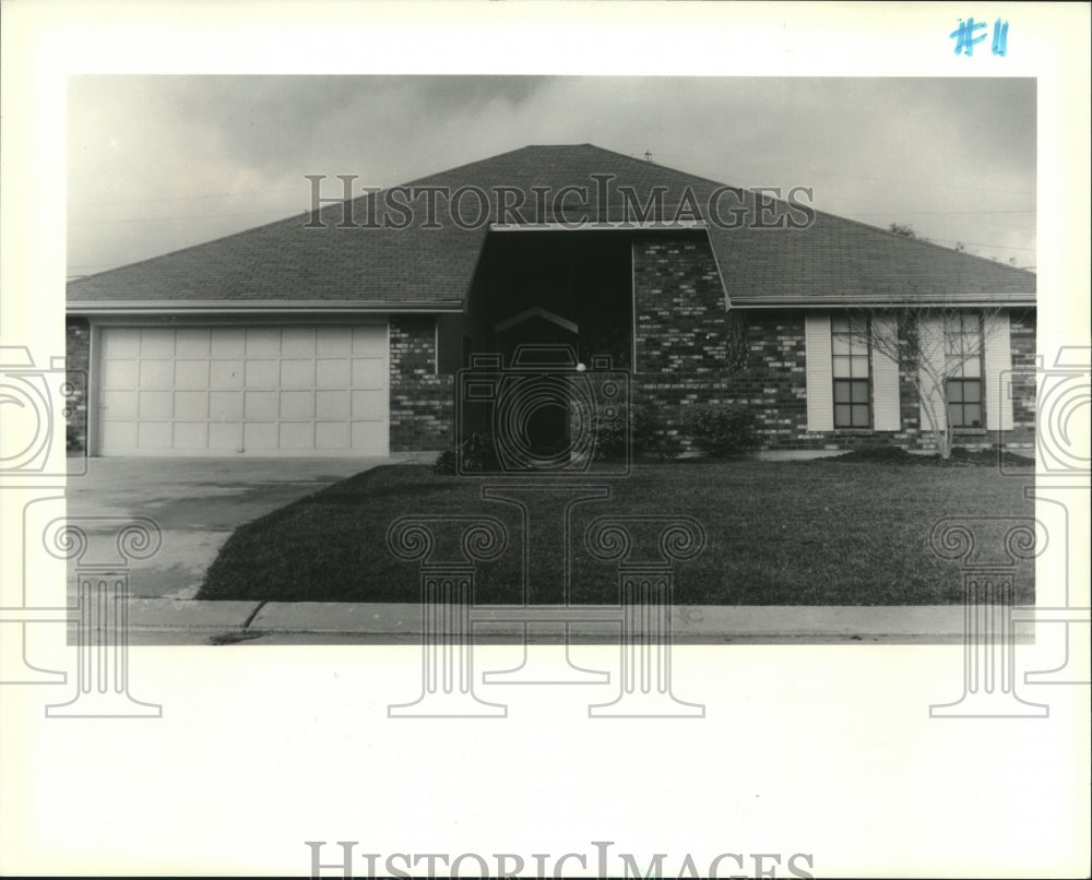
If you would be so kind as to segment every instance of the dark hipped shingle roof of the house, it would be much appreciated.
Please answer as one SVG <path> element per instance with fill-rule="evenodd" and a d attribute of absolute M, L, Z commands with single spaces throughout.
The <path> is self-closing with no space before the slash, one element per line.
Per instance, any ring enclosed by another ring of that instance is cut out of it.
<path fill-rule="evenodd" d="M 610 176 L 609 182 L 604 175 Z M 340 181 L 325 181 L 327 192 L 331 185 L 340 186 Z M 597 188 L 604 186 L 606 198 L 598 199 Z M 725 228 L 733 205 L 750 212 L 749 217 L 756 215 L 752 193 L 592 144 L 525 146 L 406 187 L 447 187 L 449 192 L 476 187 L 486 193 L 487 219 L 492 222 L 499 218 L 498 201 L 517 204 L 522 193 L 519 214 L 509 212 L 503 217 L 509 223 L 618 222 L 625 218 L 624 189 L 632 188 L 632 195 L 643 205 L 655 188 L 662 188 L 662 210 L 653 211 L 650 218 L 667 223 L 680 207 L 696 209 L 693 213 L 684 210 L 682 219 L 704 222 L 725 292 L 735 306 L 862 298 L 892 304 L 923 299 L 1031 304 L 1035 297 L 1035 276 L 1025 271 L 821 212 L 814 213 L 807 228 Z M 554 211 L 551 200 L 566 187 L 586 188 L 587 203 L 570 193 L 562 210 Z M 721 201 L 714 215 L 709 203 L 717 191 Z M 345 206 L 329 204 L 313 216 L 277 221 L 73 281 L 68 287 L 70 306 L 182 301 L 237 302 L 240 308 L 307 301 L 395 308 L 460 306 L 488 234 L 487 222 L 474 223 L 477 197 L 467 191 L 460 204 L 467 228 L 451 222 L 442 200 L 431 224 L 437 228 L 429 228 L 424 197 L 414 201 L 412 193 L 404 192 L 397 201 L 412 202 L 417 210 L 405 228 L 383 228 L 388 218 L 404 222 L 401 212 L 384 207 L 391 192 L 379 193 L 370 202 L 378 207 L 372 222 L 380 228 L 363 226 L 369 216 L 368 197 L 351 203 L 352 218 L 358 224 L 354 228 L 340 228 Z M 548 193 L 545 201 L 544 192 Z M 692 202 L 686 201 L 688 192 Z M 788 205 L 778 202 L 774 215 L 786 214 Z M 308 228 L 316 222 L 325 228 Z"/>

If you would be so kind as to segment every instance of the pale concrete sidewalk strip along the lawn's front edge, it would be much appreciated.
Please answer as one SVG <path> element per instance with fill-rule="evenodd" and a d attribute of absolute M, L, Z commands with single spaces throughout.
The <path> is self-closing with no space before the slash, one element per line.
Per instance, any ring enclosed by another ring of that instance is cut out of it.
<path fill-rule="evenodd" d="M 590 617 L 597 610 L 602 614 L 598 620 L 571 623 L 573 642 L 617 641 L 619 625 L 609 619 L 617 615 L 617 607 L 580 607 Z M 512 619 L 517 615 L 502 606 L 475 607 L 475 640 L 522 641 L 522 625 Z M 672 630 L 677 644 L 952 644 L 963 639 L 963 606 L 680 606 L 673 609 Z M 559 638 L 560 629 L 555 631 Z M 132 645 L 415 644 L 420 638 L 420 606 L 412 603 L 169 598 L 129 603 Z M 1018 640 L 1022 639 L 1031 639 L 1030 629 L 1018 632 Z M 556 639 L 533 635 L 531 641 Z"/>

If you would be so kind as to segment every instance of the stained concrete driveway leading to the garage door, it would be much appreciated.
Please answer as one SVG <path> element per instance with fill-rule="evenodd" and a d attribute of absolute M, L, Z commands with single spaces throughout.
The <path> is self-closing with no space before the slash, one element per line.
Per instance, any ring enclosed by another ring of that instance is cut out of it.
<path fill-rule="evenodd" d="M 133 596 L 193 598 L 230 534 L 244 523 L 391 459 L 90 459 L 68 481 L 68 519 L 146 516 L 163 546 L 134 562 Z M 119 524 L 83 523 L 92 536 Z"/>

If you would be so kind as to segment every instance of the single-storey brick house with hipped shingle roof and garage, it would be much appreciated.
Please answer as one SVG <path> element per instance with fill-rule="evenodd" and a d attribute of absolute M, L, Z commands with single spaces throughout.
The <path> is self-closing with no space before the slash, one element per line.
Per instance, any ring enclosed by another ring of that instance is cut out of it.
<path fill-rule="evenodd" d="M 1035 276 L 817 212 L 807 191 L 590 144 L 382 192 L 311 186 L 301 216 L 69 284 L 68 364 L 87 374 L 71 435 L 85 417 L 90 454 L 448 449 L 464 365 L 558 342 L 628 376 L 681 449 L 684 407 L 714 403 L 749 407 L 771 455 L 924 450 L 913 368 L 859 331 L 863 310 L 924 306 L 984 344 L 939 409 L 957 442 L 1032 444 L 1033 390 L 1002 379 L 1032 365 Z"/>

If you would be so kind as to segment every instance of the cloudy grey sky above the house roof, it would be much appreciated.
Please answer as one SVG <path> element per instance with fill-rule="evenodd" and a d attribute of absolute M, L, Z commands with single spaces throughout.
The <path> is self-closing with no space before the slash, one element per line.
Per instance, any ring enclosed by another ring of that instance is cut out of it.
<path fill-rule="evenodd" d="M 1035 110 L 1030 79 L 71 76 L 68 274 L 301 213 L 308 174 L 585 142 L 1034 266 Z"/>

